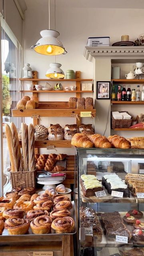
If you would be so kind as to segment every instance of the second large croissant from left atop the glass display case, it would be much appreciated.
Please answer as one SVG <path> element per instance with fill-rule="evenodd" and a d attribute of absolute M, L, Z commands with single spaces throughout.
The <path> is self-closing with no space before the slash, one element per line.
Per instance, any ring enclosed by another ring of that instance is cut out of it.
<path fill-rule="evenodd" d="M 94 143 L 96 148 L 111 148 L 112 145 L 105 136 L 100 134 L 93 134 L 89 136 L 91 142 Z"/>

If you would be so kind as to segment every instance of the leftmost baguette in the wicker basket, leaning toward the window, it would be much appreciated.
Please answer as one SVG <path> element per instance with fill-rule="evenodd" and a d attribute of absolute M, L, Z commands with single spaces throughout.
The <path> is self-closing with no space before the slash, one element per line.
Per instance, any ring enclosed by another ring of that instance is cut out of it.
<path fill-rule="evenodd" d="M 10 163 L 11 163 L 12 172 L 17 172 L 18 166 L 17 166 L 17 161 L 16 161 L 16 154 L 14 151 L 14 143 L 12 140 L 12 132 L 11 132 L 10 126 L 8 124 L 5 124 L 5 130 L 6 130 L 6 138 L 7 138 L 7 143 L 8 143 L 8 151 L 10 154 Z"/>

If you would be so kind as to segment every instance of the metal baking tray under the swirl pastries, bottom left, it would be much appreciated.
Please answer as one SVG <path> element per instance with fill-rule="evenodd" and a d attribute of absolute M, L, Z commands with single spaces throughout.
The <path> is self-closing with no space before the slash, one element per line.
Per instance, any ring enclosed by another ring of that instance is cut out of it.
<path fill-rule="evenodd" d="M 40 239 L 44 239 L 44 237 L 50 237 L 50 236 L 58 236 L 58 235 L 64 235 L 64 234 L 75 234 L 76 233 L 76 216 L 75 216 L 75 204 L 74 201 L 71 201 L 72 203 L 72 209 L 70 210 L 70 217 L 72 217 L 74 219 L 75 222 L 75 227 L 72 233 L 62 233 L 62 234 L 57 234 L 54 230 L 52 230 L 52 232 L 50 234 L 33 234 L 31 228 L 29 228 L 28 233 L 25 235 L 9 235 L 8 234 L 8 230 L 6 228 L 4 228 L 2 235 L 0 236 L 0 242 L 8 242 L 9 238 L 18 238 L 18 241 L 22 242 L 22 238 L 40 238 Z"/>

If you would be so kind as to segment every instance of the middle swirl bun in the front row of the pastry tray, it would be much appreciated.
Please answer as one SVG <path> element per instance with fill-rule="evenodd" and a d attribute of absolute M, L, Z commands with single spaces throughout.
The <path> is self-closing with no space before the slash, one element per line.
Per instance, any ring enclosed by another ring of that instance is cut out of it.
<path fill-rule="evenodd" d="M 49 234 L 51 232 L 52 218 L 47 215 L 36 217 L 30 227 L 33 234 Z"/>

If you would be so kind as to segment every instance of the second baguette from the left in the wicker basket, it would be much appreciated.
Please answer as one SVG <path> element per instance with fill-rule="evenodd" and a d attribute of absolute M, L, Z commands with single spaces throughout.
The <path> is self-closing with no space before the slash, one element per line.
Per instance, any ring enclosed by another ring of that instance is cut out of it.
<path fill-rule="evenodd" d="M 16 154 L 17 166 L 18 166 L 18 170 L 19 170 L 21 159 L 22 159 L 22 154 L 21 154 L 21 151 L 20 151 L 20 144 L 19 144 L 19 140 L 18 140 L 18 132 L 17 132 L 16 126 L 14 125 L 13 122 L 10 123 L 10 129 L 12 131 L 12 140 L 13 140 L 13 144 L 14 144 L 14 151 L 15 151 L 15 154 Z"/>

